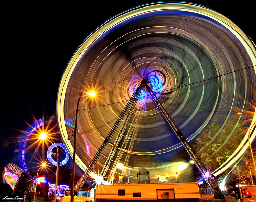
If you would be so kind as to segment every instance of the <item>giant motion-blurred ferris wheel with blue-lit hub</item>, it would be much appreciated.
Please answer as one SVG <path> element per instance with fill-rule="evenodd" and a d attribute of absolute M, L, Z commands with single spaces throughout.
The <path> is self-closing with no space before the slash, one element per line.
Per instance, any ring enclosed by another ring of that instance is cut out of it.
<path fill-rule="evenodd" d="M 238 124 L 246 122 L 244 137 L 215 169 L 218 175 L 245 152 L 248 137 L 253 140 L 256 135 L 255 56 L 253 42 L 240 28 L 203 6 L 153 3 L 121 13 L 89 35 L 62 76 L 57 116 L 63 142 L 73 154 L 73 142 L 67 141 L 71 127 L 63 123 L 65 117 L 74 118 L 77 99 L 85 89 L 96 90 L 98 97 L 81 102 L 77 125 L 96 154 L 139 83 L 147 80 L 188 142 L 218 121 L 219 130 L 207 144 L 229 128 L 230 135 L 218 146 L 225 147 Z M 136 158 L 152 156 L 165 164 L 182 146 L 148 91 L 141 91 L 138 103 L 132 116 L 139 112 L 139 121 L 127 122 L 137 128 L 134 145 L 117 147 L 123 155 L 133 155 L 133 162 L 126 165 L 129 173 L 134 167 L 136 170 Z M 228 125 L 229 120 L 233 125 Z M 95 170 L 105 168 L 119 130 L 99 157 Z M 127 137 L 127 133 L 122 136 Z M 83 141 L 78 140 L 76 161 L 83 170 L 91 160 L 85 153 Z M 151 169 L 155 169 L 153 165 Z"/>

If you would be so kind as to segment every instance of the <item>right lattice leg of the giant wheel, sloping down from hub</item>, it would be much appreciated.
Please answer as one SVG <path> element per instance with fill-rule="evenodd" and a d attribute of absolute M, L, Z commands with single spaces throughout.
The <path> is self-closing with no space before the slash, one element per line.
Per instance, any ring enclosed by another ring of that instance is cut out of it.
<path fill-rule="evenodd" d="M 155 101 L 156 105 L 158 106 L 159 110 L 162 112 L 163 116 L 165 116 L 166 120 L 168 121 L 168 123 L 170 124 L 170 126 L 172 127 L 173 131 L 175 132 L 175 134 L 178 136 L 178 138 L 180 139 L 181 143 L 183 144 L 183 146 L 185 147 L 186 151 L 188 152 L 188 154 L 191 156 L 191 158 L 194 160 L 195 164 L 197 165 L 198 169 L 201 171 L 201 173 L 205 174 L 208 172 L 207 168 L 204 166 L 204 164 L 202 163 L 202 161 L 200 160 L 200 158 L 197 156 L 197 154 L 195 153 L 194 149 L 189 145 L 189 143 L 187 142 L 187 140 L 185 139 L 185 137 L 183 136 L 182 132 L 179 130 L 179 128 L 174 124 L 173 120 L 171 119 L 171 117 L 169 116 L 169 114 L 167 113 L 167 111 L 165 110 L 165 108 L 162 106 L 162 104 L 160 103 L 160 101 L 157 99 L 156 95 L 154 94 L 154 92 L 151 90 L 151 88 L 147 85 L 147 80 L 143 80 L 142 84 L 143 86 L 146 87 L 147 91 L 150 93 L 151 97 L 153 98 L 153 100 Z M 216 194 L 224 199 L 224 195 L 221 192 L 221 190 L 218 187 L 218 184 L 216 183 L 216 181 L 212 178 L 213 176 L 208 177 L 208 183 L 210 184 L 210 186 L 215 190 Z"/>

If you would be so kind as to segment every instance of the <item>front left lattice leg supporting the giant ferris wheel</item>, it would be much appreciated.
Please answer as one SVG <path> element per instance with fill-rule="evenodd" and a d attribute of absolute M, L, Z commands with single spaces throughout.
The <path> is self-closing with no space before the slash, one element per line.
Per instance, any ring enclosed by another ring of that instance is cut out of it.
<path fill-rule="evenodd" d="M 112 136 L 114 135 L 115 131 L 117 130 L 118 126 L 120 125 L 120 123 L 122 122 L 123 118 L 125 117 L 125 115 L 127 114 L 128 110 L 130 109 L 130 107 L 136 103 L 138 101 L 138 97 L 140 95 L 140 91 L 141 91 L 141 87 L 142 84 L 140 84 L 140 86 L 135 90 L 135 92 L 133 93 L 133 95 L 131 96 L 131 99 L 128 101 L 127 105 L 125 106 L 123 112 L 120 114 L 120 116 L 118 117 L 118 119 L 116 120 L 114 126 L 112 127 L 112 129 L 110 130 L 109 134 L 106 136 L 106 139 L 104 140 L 104 142 L 102 143 L 102 145 L 100 146 L 99 150 L 97 151 L 97 153 L 95 154 L 94 158 L 91 160 L 90 164 L 88 165 L 87 169 L 85 170 L 84 174 L 82 175 L 82 177 L 79 179 L 79 181 L 77 182 L 77 184 L 74 187 L 74 191 L 77 193 L 77 191 L 79 191 L 81 189 L 81 187 L 83 186 L 83 184 L 85 183 L 88 175 L 90 174 L 90 172 L 93 170 L 95 164 L 97 163 L 97 161 L 99 160 L 101 154 L 103 153 L 104 149 L 106 148 L 106 146 L 108 145 L 109 141 L 111 140 Z M 76 193 L 74 195 L 76 195 Z"/>

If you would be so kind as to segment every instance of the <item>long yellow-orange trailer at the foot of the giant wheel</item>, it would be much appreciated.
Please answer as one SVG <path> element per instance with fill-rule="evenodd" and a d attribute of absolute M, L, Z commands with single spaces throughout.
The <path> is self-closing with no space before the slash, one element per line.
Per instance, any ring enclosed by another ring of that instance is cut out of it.
<path fill-rule="evenodd" d="M 154 183 L 97 185 L 97 202 L 199 202 L 198 183 Z"/>

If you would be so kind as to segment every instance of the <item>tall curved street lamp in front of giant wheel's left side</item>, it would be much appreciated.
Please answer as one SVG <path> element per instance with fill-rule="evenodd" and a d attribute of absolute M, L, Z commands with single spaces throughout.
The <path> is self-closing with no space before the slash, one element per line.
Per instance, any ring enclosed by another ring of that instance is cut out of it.
<path fill-rule="evenodd" d="M 74 202 L 74 181 L 75 181 L 75 155 L 76 155 L 76 133 L 77 133 L 77 115 L 78 115 L 78 107 L 79 107 L 79 102 L 84 94 L 84 92 L 87 92 L 87 90 L 83 91 L 81 95 L 79 96 L 79 99 L 77 101 L 76 105 L 76 112 L 75 112 L 75 128 L 74 128 L 74 151 L 73 151 L 73 167 L 72 167 L 72 178 L 71 178 L 71 193 L 70 193 L 70 202 Z M 88 93 L 90 96 L 95 96 L 95 92 L 90 92 Z"/>

